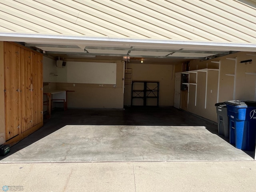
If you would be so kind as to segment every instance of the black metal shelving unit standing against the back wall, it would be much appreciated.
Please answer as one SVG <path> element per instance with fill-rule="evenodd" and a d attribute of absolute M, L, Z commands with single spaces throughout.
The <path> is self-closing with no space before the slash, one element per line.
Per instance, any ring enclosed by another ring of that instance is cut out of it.
<path fill-rule="evenodd" d="M 136 89 L 135 87 L 138 87 Z M 156 105 L 159 106 L 159 82 L 158 81 L 132 81 L 132 101 L 131 106 L 134 105 L 134 99 L 142 99 L 143 106 L 147 105 L 147 99 L 156 99 Z"/>

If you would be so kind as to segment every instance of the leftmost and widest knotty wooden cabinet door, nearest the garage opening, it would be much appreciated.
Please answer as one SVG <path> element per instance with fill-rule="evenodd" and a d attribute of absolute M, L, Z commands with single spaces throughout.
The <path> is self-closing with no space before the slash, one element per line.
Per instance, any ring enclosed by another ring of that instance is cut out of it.
<path fill-rule="evenodd" d="M 4 42 L 6 140 L 20 133 L 20 48 Z"/>

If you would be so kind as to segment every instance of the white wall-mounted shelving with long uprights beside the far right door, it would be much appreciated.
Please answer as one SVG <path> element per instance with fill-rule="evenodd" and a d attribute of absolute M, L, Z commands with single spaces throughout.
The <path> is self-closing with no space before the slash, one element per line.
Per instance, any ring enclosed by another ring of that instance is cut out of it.
<path fill-rule="evenodd" d="M 219 69 L 220 69 L 220 61 L 212 61 L 213 63 L 218 63 L 219 64 Z M 188 74 L 188 82 L 182 83 L 184 85 L 188 85 L 188 101 L 189 101 L 189 90 L 190 90 L 190 85 L 196 86 L 196 92 L 195 92 L 195 106 L 196 106 L 196 97 L 197 97 L 197 77 L 198 77 L 198 72 L 206 72 L 206 88 L 205 88 L 205 103 L 204 103 L 204 108 L 206 109 L 206 102 L 207 102 L 207 83 L 208 83 L 208 71 L 218 71 L 218 95 L 217 95 L 217 103 L 219 100 L 219 89 L 220 89 L 220 70 L 219 69 L 210 69 L 210 68 L 205 68 L 205 69 L 198 69 L 198 70 L 191 70 L 191 71 L 185 71 L 181 72 L 182 74 Z M 194 73 L 196 74 L 196 82 L 190 82 L 190 75 Z M 188 103 L 187 101 L 187 103 Z"/>

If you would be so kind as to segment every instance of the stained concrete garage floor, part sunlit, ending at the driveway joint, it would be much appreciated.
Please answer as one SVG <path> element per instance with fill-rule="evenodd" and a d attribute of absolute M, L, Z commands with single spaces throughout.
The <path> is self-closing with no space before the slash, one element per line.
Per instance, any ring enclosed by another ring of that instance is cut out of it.
<path fill-rule="evenodd" d="M 219 136 L 213 122 L 176 108 L 69 109 L 53 112 L 0 162 L 253 160 L 253 155 Z"/>

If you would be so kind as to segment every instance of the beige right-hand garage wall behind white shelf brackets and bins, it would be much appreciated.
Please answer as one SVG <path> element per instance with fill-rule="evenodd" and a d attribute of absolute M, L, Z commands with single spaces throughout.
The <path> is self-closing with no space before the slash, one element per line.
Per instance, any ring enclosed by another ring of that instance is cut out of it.
<path fill-rule="evenodd" d="M 181 108 L 214 122 L 217 122 L 216 107 L 214 106 L 215 103 L 225 102 L 234 99 L 256 101 L 256 75 L 246 74 L 246 72 L 256 73 L 256 56 L 250 56 L 248 54 L 252 53 L 238 52 L 236 54 L 230 54 L 228 56 L 215 58 L 213 60 L 206 60 L 203 62 L 200 62 L 199 60 L 192 60 L 190 62 L 190 70 L 197 70 L 203 68 L 218 68 L 219 64 L 212 61 L 220 61 L 220 71 L 208 71 L 207 90 L 206 72 L 198 72 L 196 106 L 194 105 L 195 86 L 190 85 L 189 94 L 187 91 L 181 92 Z M 236 77 L 230 76 L 230 74 L 235 74 L 235 61 L 229 60 L 227 58 L 237 59 Z M 240 61 L 242 60 L 249 59 L 252 59 L 251 63 L 240 63 Z M 192 75 L 190 77 L 192 77 Z M 236 78 L 235 87 L 234 78 Z M 220 80 L 219 98 L 218 80 Z M 235 97 L 233 98 L 234 88 Z M 187 100 L 188 105 L 186 104 Z"/>

